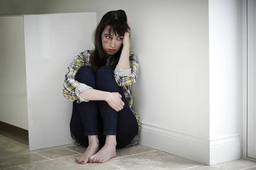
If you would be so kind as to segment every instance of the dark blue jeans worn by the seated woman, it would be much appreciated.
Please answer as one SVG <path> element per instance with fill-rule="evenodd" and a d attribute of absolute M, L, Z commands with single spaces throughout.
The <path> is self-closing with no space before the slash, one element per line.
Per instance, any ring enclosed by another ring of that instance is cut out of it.
<path fill-rule="evenodd" d="M 93 89 L 118 92 L 122 95 L 124 108 L 117 112 L 105 101 L 73 102 L 70 132 L 73 139 L 88 147 L 88 135 L 98 135 L 99 147 L 105 144 L 106 135 L 116 135 L 116 148 L 125 147 L 138 134 L 138 123 L 128 105 L 122 87 L 116 84 L 111 68 L 103 66 L 97 73 L 91 67 L 82 66 L 76 73 L 76 81 Z"/>

